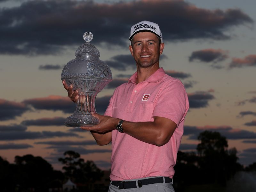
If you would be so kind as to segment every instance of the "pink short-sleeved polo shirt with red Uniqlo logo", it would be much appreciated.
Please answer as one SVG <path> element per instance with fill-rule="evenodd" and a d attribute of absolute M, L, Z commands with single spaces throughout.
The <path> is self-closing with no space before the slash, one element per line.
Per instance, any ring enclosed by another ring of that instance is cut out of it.
<path fill-rule="evenodd" d="M 177 124 L 171 139 L 158 147 L 126 133 L 112 131 L 110 180 L 131 180 L 151 176 L 173 177 L 173 166 L 183 134 L 189 104 L 180 80 L 158 69 L 146 81 L 136 84 L 137 72 L 116 88 L 105 115 L 131 122 L 154 121 L 154 116 Z"/>

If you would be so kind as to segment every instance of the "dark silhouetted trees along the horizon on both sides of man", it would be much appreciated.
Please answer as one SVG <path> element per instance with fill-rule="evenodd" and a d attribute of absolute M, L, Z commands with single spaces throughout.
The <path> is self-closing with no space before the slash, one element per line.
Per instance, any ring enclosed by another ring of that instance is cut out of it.
<path fill-rule="evenodd" d="M 227 139 L 219 132 L 204 131 L 198 140 L 196 152 L 177 154 L 173 183 L 176 192 L 186 191 L 192 185 L 225 187 L 236 172 L 256 171 L 256 162 L 247 167 L 237 162 L 236 148 L 228 149 Z M 15 156 L 14 164 L 0 156 L 0 191 L 54 191 L 70 179 L 77 185 L 73 191 L 96 192 L 93 185 L 101 179 L 103 171 L 93 161 L 84 161 L 75 151 L 66 151 L 63 155 L 59 158 L 62 172 L 54 170 L 40 156 Z"/>

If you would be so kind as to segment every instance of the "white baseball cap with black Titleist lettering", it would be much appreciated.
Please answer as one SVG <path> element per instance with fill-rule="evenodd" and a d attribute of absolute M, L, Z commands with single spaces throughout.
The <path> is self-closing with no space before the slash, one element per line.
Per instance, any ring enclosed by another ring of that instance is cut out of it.
<path fill-rule="evenodd" d="M 141 21 L 139 23 L 136 23 L 131 28 L 131 36 L 129 37 L 129 40 L 131 41 L 132 38 L 140 32 L 151 32 L 154 33 L 157 37 L 161 39 L 161 43 L 163 43 L 163 36 L 160 31 L 159 26 L 156 23 L 150 22 L 150 21 Z"/>

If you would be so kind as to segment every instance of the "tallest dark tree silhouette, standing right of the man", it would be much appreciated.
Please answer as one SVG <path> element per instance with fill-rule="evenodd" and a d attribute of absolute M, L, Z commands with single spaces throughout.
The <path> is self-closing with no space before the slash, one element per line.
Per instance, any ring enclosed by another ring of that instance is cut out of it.
<path fill-rule="evenodd" d="M 228 151 L 228 141 L 219 132 L 204 131 L 198 136 L 199 161 L 204 182 L 226 185 L 226 182 L 242 166 L 236 161 L 236 148 Z"/>

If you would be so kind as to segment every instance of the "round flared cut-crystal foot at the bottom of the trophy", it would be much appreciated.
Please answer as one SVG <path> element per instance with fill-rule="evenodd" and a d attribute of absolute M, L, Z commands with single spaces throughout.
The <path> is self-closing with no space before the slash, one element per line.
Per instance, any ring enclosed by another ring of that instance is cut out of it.
<path fill-rule="evenodd" d="M 91 114 L 73 114 L 71 116 L 69 116 L 66 119 L 65 125 L 67 127 L 76 127 L 76 128 L 80 128 L 81 126 L 94 126 L 96 124 L 98 124 L 100 121 L 99 119 L 97 119 L 96 117 L 92 116 Z"/>

